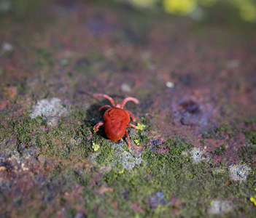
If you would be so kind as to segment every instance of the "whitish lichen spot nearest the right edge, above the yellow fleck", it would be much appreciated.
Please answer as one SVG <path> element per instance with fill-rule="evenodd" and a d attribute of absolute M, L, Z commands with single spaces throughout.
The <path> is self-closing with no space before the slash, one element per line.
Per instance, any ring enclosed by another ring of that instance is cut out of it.
<path fill-rule="evenodd" d="M 252 170 L 247 164 L 238 164 L 229 167 L 230 178 L 233 180 L 244 181 L 247 179 L 249 171 Z"/>

